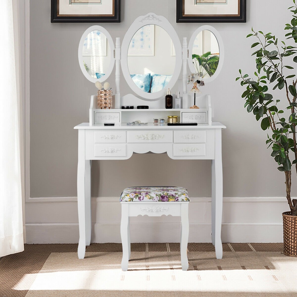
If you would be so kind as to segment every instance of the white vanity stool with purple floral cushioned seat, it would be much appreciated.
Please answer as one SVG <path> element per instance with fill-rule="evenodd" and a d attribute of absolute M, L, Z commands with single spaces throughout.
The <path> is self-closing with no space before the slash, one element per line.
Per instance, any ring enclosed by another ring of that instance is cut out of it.
<path fill-rule="evenodd" d="M 181 268 L 188 270 L 187 246 L 189 237 L 189 196 L 187 189 L 182 187 L 129 187 L 121 194 L 122 218 L 121 239 L 123 246 L 123 258 L 121 268 L 128 269 L 128 261 L 131 255 L 130 249 L 130 217 L 148 215 L 160 217 L 169 214 L 181 217 Z"/>

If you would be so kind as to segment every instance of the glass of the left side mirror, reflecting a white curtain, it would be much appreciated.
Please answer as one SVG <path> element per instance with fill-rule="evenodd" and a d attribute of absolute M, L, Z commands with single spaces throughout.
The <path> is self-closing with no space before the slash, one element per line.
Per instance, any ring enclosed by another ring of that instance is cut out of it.
<path fill-rule="evenodd" d="M 92 78 L 102 78 L 110 64 L 110 47 L 106 36 L 98 30 L 90 32 L 83 44 L 83 65 Z"/>

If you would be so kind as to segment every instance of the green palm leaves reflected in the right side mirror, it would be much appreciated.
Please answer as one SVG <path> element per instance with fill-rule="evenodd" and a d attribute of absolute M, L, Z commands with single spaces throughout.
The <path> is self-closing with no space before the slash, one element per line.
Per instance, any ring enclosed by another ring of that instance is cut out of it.
<path fill-rule="evenodd" d="M 219 56 L 211 55 L 211 52 L 204 53 L 203 55 L 192 55 L 193 64 L 198 73 L 202 73 L 202 77 L 207 74 L 212 76 L 216 72 L 219 65 Z"/>

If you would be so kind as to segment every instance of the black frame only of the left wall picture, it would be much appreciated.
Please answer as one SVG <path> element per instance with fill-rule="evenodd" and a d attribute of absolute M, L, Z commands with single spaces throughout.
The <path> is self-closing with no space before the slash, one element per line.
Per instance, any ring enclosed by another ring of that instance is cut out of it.
<path fill-rule="evenodd" d="M 108 0 L 110 1 L 110 0 Z M 51 0 L 51 23 L 121 23 L 121 0 L 114 1 L 113 16 L 59 16 L 59 0 Z"/>

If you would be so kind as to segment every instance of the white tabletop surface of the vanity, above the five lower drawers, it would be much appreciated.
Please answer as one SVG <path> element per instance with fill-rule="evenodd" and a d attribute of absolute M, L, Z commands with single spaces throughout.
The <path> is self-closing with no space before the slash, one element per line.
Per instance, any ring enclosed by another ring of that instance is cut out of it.
<path fill-rule="evenodd" d="M 162 129 L 225 129 L 226 126 L 221 123 L 212 123 L 209 124 L 198 124 L 197 126 L 167 126 L 167 123 L 164 124 L 164 126 L 161 126 L 160 124 L 158 126 L 155 126 L 154 123 L 148 123 L 145 126 L 128 126 L 127 123 L 121 123 L 121 124 L 115 124 L 114 126 L 104 126 L 104 124 L 94 124 L 90 126 L 89 123 L 81 123 L 74 127 L 74 129 L 108 129 L 108 130 L 132 130 L 132 129 L 150 129 L 150 130 L 162 130 Z"/>

